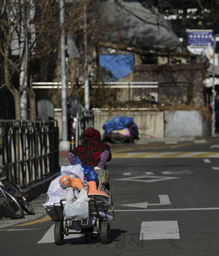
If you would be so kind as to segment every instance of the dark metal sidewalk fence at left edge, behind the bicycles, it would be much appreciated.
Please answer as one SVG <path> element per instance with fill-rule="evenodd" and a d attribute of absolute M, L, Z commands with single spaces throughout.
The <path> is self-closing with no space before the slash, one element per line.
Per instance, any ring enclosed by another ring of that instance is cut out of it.
<path fill-rule="evenodd" d="M 59 127 L 56 120 L 0 120 L 0 172 L 18 185 L 36 181 L 59 167 Z"/>

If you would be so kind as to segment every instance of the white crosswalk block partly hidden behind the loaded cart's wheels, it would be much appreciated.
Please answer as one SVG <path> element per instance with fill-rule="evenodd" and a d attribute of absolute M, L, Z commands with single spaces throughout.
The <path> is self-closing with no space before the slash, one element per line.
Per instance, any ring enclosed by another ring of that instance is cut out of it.
<path fill-rule="evenodd" d="M 43 238 L 38 242 L 38 244 L 43 243 L 54 243 L 54 228 L 55 224 L 51 226 L 51 228 L 44 234 Z M 64 235 L 64 242 L 77 242 L 79 241 L 82 234 L 69 234 L 68 236 Z"/>

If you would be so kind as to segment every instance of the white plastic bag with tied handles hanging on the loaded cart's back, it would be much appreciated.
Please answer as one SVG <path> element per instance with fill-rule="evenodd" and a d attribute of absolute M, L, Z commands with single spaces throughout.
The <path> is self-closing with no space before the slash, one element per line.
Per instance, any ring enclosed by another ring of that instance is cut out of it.
<path fill-rule="evenodd" d="M 72 188 L 68 188 L 66 199 L 63 210 L 65 220 L 86 219 L 88 217 L 88 201 L 90 198 L 85 189 L 81 189 L 80 193 L 77 195 L 77 199 L 72 201 Z"/>

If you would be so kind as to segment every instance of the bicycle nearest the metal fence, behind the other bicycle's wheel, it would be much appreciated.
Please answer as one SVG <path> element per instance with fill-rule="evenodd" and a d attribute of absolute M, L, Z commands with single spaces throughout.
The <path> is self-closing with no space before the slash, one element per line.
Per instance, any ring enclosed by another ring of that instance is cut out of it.
<path fill-rule="evenodd" d="M 0 181 L 4 186 L 4 189 L 8 191 L 22 206 L 23 210 L 29 214 L 34 215 L 34 209 L 30 205 L 30 203 L 27 201 L 26 197 L 27 195 L 11 180 L 10 177 L 6 174 L 0 174 Z M 12 184 L 14 183 L 14 185 Z M 22 216 L 23 217 L 23 216 Z M 22 218 L 19 217 L 19 218 Z M 10 217 L 12 218 L 12 217 Z"/>

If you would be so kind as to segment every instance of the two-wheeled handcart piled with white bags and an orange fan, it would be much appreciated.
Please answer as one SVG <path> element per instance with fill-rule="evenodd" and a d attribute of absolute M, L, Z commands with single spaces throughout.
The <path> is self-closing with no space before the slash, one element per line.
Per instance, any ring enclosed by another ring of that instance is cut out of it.
<path fill-rule="evenodd" d="M 77 162 L 78 161 L 78 162 Z M 79 158 L 75 165 L 61 166 L 60 176 L 50 184 L 44 207 L 56 222 L 55 243 L 61 245 L 64 234 L 100 235 L 101 242 L 110 241 L 108 220 L 114 219 L 107 213 L 112 205 L 112 196 L 98 190 L 101 176 L 93 166 L 81 165 Z M 96 226 L 96 231 L 89 228 Z M 71 230 L 72 232 L 69 232 Z"/>

